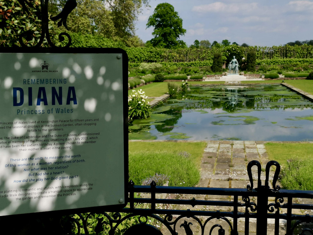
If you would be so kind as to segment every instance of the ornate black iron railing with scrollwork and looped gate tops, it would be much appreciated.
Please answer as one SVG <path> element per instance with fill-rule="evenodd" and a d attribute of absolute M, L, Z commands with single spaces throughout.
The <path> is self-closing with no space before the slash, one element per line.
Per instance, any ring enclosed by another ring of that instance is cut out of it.
<path fill-rule="evenodd" d="M 256 188 L 253 187 L 251 170 L 254 165 L 258 167 Z M 272 165 L 276 166 L 273 188 L 269 187 L 269 168 Z M 95 232 L 120 232 L 126 235 L 251 234 L 249 231 L 275 235 L 282 232 L 313 234 L 313 215 L 308 212 L 313 210 L 313 204 L 301 202 L 313 199 L 313 191 L 284 190 L 276 186 L 280 165 L 275 161 L 268 162 L 266 166 L 265 185 L 261 185 L 261 167 L 258 161 L 251 161 L 247 168 L 250 179 L 247 189 L 167 187 L 156 186 L 154 181 L 150 186 L 141 186 L 130 181 L 129 207 L 103 212 L 97 217 Z M 162 194 L 168 197 L 159 198 Z M 170 198 L 179 195 L 189 199 Z M 198 200 L 200 195 L 218 195 L 220 199 Z M 214 210 L 213 206 L 217 206 L 219 210 Z M 90 216 L 92 214 L 85 217 L 77 214 L 75 219 L 77 225 L 81 224 L 85 234 L 89 234 L 87 219 Z M 121 225 L 127 225 L 126 221 L 130 218 L 133 220 L 132 226 L 128 224 L 127 229 L 121 231 Z M 81 234 L 80 229 L 77 233 Z"/>

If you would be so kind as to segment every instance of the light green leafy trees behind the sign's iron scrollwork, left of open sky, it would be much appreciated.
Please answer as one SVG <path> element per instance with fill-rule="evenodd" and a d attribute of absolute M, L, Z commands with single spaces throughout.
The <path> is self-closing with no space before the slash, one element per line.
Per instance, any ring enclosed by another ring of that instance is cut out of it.
<path fill-rule="evenodd" d="M 65 2 L 51 0 L 49 14 L 57 14 Z M 142 45 L 135 35 L 135 23 L 141 7 L 148 3 L 149 0 L 77 0 L 77 7 L 69 14 L 68 27 L 75 33 L 101 34 L 129 46 Z"/>

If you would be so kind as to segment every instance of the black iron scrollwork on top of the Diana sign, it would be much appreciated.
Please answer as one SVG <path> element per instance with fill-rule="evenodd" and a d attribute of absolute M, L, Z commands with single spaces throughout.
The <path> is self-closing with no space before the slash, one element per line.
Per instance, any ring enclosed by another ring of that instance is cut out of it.
<path fill-rule="evenodd" d="M 33 0 L 29 0 L 29 1 L 33 1 Z M 19 0 L 19 2 L 21 3 L 23 10 L 25 12 L 28 12 L 28 9 L 25 5 L 25 3 L 28 3 L 26 0 Z M 41 18 L 41 35 L 40 38 L 38 40 L 38 43 L 36 45 L 34 45 L 34 47 L 40 47 L 43 42 L 44 39 L 46 38 L 49 46 L 51 47 L 55 47 L 55 48 L 59 48 L 57 45 L 55 45 L 52 41 L 51 41 L 51 37 L 50 37 L 50 33 L 49 33 L 49 14 L 48 14 L 48 3 L 49 0 L 40 0 L 40 6 L 41 6 L 41 13 L 40 13 L 40 18 Z M 31 4 L 28 3 L 28 6 L 31 6 Z M 66 29 L 68 29 L 67 27 L 67 17 L 69 15 L 69 13 L 71 13 L 71 11 L 74 10 L 74 8 L 77 6 L 77 2 L 76 0 L 68 0 L 65 5 L 64 8 L 62 9 L 62 11 L 56 15 L 56 16 L 50 16 L 50 19 L 53 21 L 57 21 L 58 22 L 58 27 L 60 27 L 62 24 L 64 25 L 64 27 Z M 68 42 L 66 45 L 64 45 L 64 48 L 67 48 L 71 45 L 72 43 L 72 39 L 71 36 L 68 33 L 62 32 L 59 34 L 58 38 L 59 38 L 59 42 L 63 42 L 65 40 L 65 37 L 67 37 Z M 21 44 L 22 47 L 29 47 L 27 44 L 24 43 L 23 39 L 26 39 L 26 41 L 30 41 L 33 37 L 33 32 L 28 30 L 26 32 L 23 32 L 19 35 L 18 41 Z"/>

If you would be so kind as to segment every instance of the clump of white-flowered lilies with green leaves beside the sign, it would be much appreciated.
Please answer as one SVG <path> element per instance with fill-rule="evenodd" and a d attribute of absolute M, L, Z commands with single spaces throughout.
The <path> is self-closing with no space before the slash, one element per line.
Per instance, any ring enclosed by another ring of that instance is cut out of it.
<path fill-rule="evenodd" d="M 128 97 L 128 117 L 130 119 L 147 118 L 151 114 L 151 108 L 146 101 L 148 97 L 141 89 L 139 91 L 133 90 Z"/>

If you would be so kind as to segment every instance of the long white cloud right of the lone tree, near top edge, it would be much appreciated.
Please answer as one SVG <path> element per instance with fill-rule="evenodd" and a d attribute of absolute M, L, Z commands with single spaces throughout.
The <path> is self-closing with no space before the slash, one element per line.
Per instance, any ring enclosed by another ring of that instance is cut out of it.
<path fill-rule="evenodd" d="M 248 13 L 253 12 L 258 9 L 258 3 L 231 3 L 225 4 L 221 2 L 215 2 L 205 5 L 198 5 L 192 8 L 193 12 L 199 13 L 208 13 L 208 12 L 215 12 L 215 13 Z"/>

